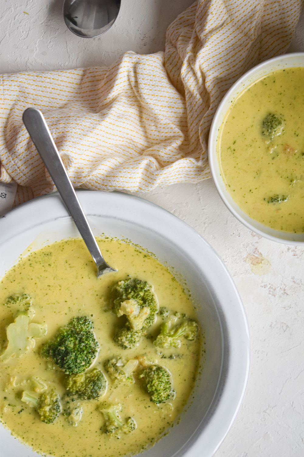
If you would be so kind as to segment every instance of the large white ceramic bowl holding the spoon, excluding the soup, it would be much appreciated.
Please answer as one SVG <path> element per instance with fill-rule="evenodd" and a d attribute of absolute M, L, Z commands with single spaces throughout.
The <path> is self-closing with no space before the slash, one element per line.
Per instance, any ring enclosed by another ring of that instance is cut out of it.
<path fill-rule="evenodd" d="M 244 309 L 222 260 L 191 227 L 164 209 L 123 193 L 78 191 L 95 235 L 127 238 L 173 266 L 187 282 L 206 337 L 206 362 L 195 399 L 180 423 L 142 457 L 210 457 L 232 425 L 249 370 Z M 78 237 L 57 194 L 21 205 L 0 220 L 1 275 L 33 243 Z M 37 456 L 0 426 L 1 457 Z M 106 457 L 106 456 L 105 456 Z"/>

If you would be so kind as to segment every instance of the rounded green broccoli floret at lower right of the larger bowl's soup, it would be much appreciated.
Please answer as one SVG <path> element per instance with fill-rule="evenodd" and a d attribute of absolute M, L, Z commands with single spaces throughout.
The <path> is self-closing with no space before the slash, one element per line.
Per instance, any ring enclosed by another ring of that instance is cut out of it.
<path fill-rule="evenodd" d="M 160 365 L 150 365 L 139 376 L 144 378 L 153 403 L 164 403 L 173 394 L 170 374 Z"/>

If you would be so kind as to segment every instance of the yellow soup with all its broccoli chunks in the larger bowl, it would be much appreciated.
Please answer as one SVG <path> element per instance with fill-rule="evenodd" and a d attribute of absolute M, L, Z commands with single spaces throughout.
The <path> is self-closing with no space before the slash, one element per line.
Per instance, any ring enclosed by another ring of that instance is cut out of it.
<path fill-rule="evenodd" d="M 1 281 L 0 419 L 50 456 L 153 445 L 198 371 L 201 330 L 181 284 L 139 247 L 98 244 L 117 272 L 97 279 L 82 239 L 68 239 L 31 252 Z"/>

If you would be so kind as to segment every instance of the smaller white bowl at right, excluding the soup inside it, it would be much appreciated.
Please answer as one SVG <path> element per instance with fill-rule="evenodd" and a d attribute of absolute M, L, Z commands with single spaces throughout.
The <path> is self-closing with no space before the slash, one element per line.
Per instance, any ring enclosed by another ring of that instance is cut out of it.
<path fill-rule="evenodd" d="M 259 223 L 258 221 L 250 218 L 244 213 L 234 202 L 230 193 L 227 191 L 225 183 L 220 173 L 220 166 L 217 159 L 217 141 L 219 138 L 219 131 L 233 101 L 249 87 L 252 83 L 259 80 L 267 74 L 279 70 L 292 67 L 304 67 L 304 53 L 291 53 L 278 56 L 257 65 L 256 67 L 245 73 L 237 82 L 232 85 L 227 94 L 222 99 L 220 105 L 216 110 L 213 118 L 208 143 L 208 159 L 211 174 L 215 182 L 218 193 L 220 194 L 223 202 L 232 214 L 241 221 L 246 227 L 259 235 L 262 235 L 273 241 L 279 241 L 286 244 L 304 244 L 304 234 L 293 234 L 288 232 L 281 232 L 274 230 Z"/>

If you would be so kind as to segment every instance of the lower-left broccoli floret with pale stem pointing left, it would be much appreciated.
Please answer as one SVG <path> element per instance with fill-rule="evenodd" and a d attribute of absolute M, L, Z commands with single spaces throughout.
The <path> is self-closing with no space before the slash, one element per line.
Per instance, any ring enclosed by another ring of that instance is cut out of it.
<path fill-rule="evenodd" d="M 39 397 L 36 397 L 31 392 L 24 391 L 21 401 L 35 408 L 41 421 L 46 424 L 52 424 L 61 413 L 60 398 L 53 389 L 41 393 Z"/>

